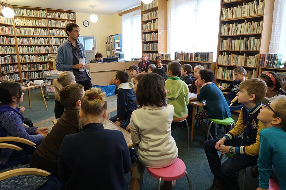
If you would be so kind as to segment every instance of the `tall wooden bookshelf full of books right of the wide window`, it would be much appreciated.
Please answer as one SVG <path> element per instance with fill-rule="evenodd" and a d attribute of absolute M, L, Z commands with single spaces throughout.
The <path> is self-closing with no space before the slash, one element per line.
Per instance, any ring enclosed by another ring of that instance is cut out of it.
<path fill-rule="evenodd" d="M 215 82 L 229 85 L 241 66 L 245 78 L 259 75 L 259 55 L 268 53 L 274 0 L 221 0 Z"/>

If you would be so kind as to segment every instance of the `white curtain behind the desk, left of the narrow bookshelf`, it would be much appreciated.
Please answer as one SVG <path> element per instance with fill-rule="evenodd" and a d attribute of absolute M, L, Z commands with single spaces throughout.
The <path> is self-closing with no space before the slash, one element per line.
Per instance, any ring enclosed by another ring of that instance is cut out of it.
<path fill-rule="evenodd" d="M 125 60 L 141 57 L 141 10 L 122 15 L 122 46 Z"/>

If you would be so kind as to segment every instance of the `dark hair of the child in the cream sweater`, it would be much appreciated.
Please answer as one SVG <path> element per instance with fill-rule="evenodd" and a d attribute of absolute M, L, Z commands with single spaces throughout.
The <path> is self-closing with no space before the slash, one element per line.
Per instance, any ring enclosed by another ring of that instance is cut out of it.
<path fill-rule="evenodd" d="M 136 90 L 136 99 L 139 106 L 167 106 L 165 80 L 156 73 L 145 74 L 139 81 Z"/>

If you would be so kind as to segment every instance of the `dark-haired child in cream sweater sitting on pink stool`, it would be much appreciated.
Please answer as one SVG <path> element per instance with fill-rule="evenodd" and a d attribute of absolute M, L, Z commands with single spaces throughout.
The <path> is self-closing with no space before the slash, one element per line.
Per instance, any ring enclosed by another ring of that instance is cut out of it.
<path fill-rule="evenodd" d="M 171 136 L 174 107 L 165 102 L 164 83 L 161 76 L 150 73 L 144 75 L 138 85 L 134 86 L 141 108 L 132 113 L 130 120 L 132 142 L 139 145 L 130 190 L 139 189 L 145 167 L 167 167 L 178 156 L 176 142 Z"/>

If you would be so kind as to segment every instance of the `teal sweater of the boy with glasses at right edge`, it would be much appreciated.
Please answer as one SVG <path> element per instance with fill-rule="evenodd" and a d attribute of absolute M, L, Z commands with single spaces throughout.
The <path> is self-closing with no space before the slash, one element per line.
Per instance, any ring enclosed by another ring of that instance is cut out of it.
<path fill-rule="evenodd" d="M 257 161 L 259 187 L 268 189 L 272 166 L 276 170 L 281 190 L 286 189 L 286 132 L 278 127 L 260 131 L 260 152 Z"/>

